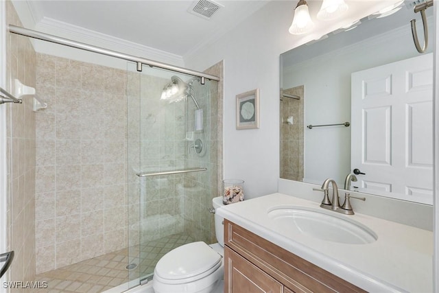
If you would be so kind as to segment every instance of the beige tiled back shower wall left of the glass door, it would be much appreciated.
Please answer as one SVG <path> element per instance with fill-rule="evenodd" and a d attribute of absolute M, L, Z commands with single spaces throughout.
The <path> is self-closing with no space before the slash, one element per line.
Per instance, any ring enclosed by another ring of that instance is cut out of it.
<path fill-rule="evenodd" d="M 36 272 L 127 246 L 126 71 L 37 54 Z"/>

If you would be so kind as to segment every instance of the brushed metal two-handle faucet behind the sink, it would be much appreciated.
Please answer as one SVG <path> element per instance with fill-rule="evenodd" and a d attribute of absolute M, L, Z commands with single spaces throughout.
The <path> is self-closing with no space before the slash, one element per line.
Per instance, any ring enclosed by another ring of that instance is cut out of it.
<path fill-rule="evenodd" d="M 350 176 L 352 175 L 352 176 Z M 349 178 L 348 182 L 351 182 L 352 178 L 355 178 L 355 175 L 349 174 L 348 177 L 346 177 L 346 180 Z M 353 180 L 356 181 L 356 180 Z M 332 200 L 329 200 L 329 183 L 332 183 Z M 346 182 L 345 182 L 346 187 Z M 327 178 L 327 180 L 324 180 L 321 189 L 314 189 L 318 191 L 324 192 L 324 197 L 322 200 L 322 203 L 320 204 L 320 207 L 324 209 L 330 209 L 332 211 L 336 211 L 337 213 L 344 213 L 345 215 L 353 215 L 354 211 L 351 206 L 351 198 L 356 198 L 357 200 L 363 200 L 365 201 L 366 198 L 360 198 L 357 196 L 351 196 L 348 192 L 344 194 L 344 204 L 340 207 L 340 199 L 338 198 L 338 187 L 337 183 L 335 183 L 335 180 L 331 178 Z"/>

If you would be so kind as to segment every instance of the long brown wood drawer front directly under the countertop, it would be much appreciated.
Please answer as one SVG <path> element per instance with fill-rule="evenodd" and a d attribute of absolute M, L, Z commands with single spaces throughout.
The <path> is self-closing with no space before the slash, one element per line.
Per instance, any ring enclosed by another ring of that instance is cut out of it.
<path fill-rule="evenodd" d="M 366 292 L 228 220 L 224 242 L 294 292 Z"/>

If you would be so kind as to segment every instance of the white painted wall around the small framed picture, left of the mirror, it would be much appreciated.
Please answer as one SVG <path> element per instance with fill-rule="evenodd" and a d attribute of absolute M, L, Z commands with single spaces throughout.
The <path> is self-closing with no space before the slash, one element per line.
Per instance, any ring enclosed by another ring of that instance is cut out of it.
<path fill-rule="evenodd" d="M 375 12 L 380 4 L 370 1 L 369 5 L 361 15 Z M 293 36 L 288 32 L 293 9 L 290 1 L 270 1 L 233 31 L 185 56 L 186 67 L 195 70 L 224 60 L 224 177 L 244 179 L 248 198 L 277 189 L 279 55 L 335 29 L 330 24 L 321 34 Z M 235 96 L 256 88 L 260 89 L 261 127 L 236 130 Z"/>

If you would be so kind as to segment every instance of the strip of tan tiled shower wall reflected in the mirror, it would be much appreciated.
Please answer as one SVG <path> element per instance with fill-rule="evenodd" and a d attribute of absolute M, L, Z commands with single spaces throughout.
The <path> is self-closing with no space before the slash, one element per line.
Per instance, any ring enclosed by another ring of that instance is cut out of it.
<path fill-rule="evenodd" d="M 304 86 L 284 89 L 282 93 L 300 99 L 281 97 L 281 178 L 302 181 L 304 175 Z M 281 95 L 282 95 L 281 93 Z M 293 117 L 293 124 L 287 118 Z"/>

